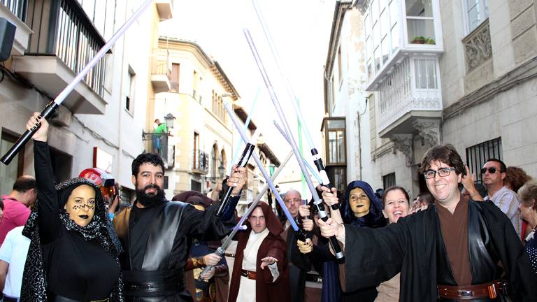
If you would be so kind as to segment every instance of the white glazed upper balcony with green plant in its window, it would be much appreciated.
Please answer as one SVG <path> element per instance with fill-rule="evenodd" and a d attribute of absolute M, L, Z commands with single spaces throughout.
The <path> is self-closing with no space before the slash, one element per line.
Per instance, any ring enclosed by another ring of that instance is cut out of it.
<path fill-rule="evenodd" d="M 405 57 L 439 57 L 443 53 L 438 0 L 366 2 L 360 4 L 366 11 L 366 90 L 377 91 L 385 76 Z"/>

